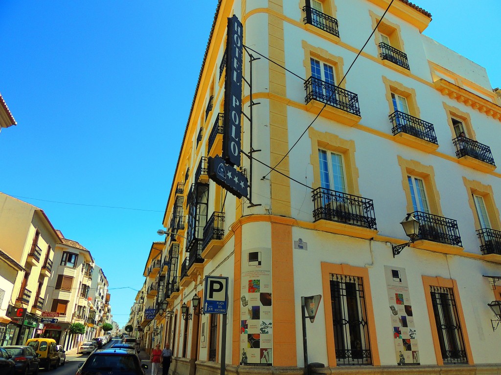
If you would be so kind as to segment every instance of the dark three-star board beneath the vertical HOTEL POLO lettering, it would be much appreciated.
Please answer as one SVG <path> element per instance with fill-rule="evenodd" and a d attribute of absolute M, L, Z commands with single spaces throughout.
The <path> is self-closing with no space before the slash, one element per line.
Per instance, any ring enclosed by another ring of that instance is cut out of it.
<path fill-rule="evenodd" d="M 231 194 L 240 198 L 247 196 L 247 177 L 242 172 L 236 170 L 233 166 L 224 162 L 223 158 L 216 155 L 207 159 L 209 178 L 224 187 Z"/>

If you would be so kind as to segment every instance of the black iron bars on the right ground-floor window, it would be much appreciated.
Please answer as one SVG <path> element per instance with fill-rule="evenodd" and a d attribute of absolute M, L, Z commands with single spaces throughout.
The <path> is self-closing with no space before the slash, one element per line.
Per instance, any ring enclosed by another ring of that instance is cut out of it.
<path fill-rule="evenodd" d="M 463 332 L 452 288 L 430 286 L 430 293 L 444 363 L 467 363 Z"/>

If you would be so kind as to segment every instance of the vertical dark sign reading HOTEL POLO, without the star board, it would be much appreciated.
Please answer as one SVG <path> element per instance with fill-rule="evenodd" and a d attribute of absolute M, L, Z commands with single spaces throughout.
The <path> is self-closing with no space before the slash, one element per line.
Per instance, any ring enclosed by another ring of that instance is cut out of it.
<path fill-rule="evenodd" d="M 228 18 L 226 80 L 224 84 L 224 126 L 222 157 L 230 165 L 240 165 L 242 114 L 243 26 L 236 15 Z"/>

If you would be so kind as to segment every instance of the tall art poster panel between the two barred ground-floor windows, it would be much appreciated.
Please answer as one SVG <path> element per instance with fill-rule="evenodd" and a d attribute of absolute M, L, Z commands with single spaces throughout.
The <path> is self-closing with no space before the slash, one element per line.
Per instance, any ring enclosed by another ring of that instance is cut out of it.
<path fill-rule="evenodd" d="M 385 265 L 384 273 L 397 364 L 418 365 L 417 333 L 405 268 Z"/>

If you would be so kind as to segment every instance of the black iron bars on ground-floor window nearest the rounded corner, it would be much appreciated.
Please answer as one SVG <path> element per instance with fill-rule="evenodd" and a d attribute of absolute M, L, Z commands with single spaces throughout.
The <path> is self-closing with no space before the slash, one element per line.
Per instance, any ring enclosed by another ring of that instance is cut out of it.
<path fill-rule="evenodd" d="M 339 364 L 371 364 L 362 278 L 331 274 L 330 288 L 336 360 Z"/>

